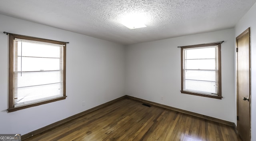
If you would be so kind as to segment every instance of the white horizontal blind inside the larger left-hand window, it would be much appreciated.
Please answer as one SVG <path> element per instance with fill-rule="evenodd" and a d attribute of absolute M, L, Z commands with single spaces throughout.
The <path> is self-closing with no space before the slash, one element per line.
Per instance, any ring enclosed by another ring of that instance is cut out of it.
<path fill-rule="evenodd" d="M 64 45 L 15 38 L 14 107 L 63 97 Z"/>

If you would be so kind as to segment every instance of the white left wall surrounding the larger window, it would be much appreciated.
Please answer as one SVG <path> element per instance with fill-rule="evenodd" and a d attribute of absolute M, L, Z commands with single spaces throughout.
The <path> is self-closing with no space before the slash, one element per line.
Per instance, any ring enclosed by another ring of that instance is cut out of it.
<path fill-rule="evenodd" d="M 66 48 L 65 100 L 6 112 L 8 36 L 4 31 L 70 42 Z M 124 46 L 0 15 L 0 133 L 24 135 L 123 95 Z"/>

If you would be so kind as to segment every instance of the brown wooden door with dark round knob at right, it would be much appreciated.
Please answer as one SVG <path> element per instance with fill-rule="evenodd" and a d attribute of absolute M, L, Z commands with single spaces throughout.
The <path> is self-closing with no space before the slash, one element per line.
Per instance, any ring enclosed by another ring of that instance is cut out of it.
<path fill-rule="evenodd" d="M 251 140 L 250 121 L 250 28 L 236 38 L 237 129 L 242 141 Z"/>

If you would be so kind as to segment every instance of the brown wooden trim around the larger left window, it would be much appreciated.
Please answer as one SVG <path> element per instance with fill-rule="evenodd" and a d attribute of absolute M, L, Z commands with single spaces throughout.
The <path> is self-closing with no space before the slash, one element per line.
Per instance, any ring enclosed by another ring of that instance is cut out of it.
<path fill-rule="evenodd" d="M 14 57 L 14 39 L 19 38 L 19 39 L 25 39 L 25 40 L 34 40 L 34 41 L 39 41 L 39 42 L 48 42 L 48 43 L 53 43 L 53 44 L 63 44 L 63 97 L 58 97 L 55 99 L 50 99 L 47 101 L 41 101 L 38 103 L 33 103 L 30 105 L 24 105 L 20 107 L 14 107 L 14 95 L 13 95 L 13 89 L 14 89 L 14 82 L 13 82 L 13 76 L 14 76 L 14 71 L 13 71 L 13 57 Z M 36 37 L 30 37 L 30 36 L 23 36 L 23 35 L 18 35 L 18 34 L 9 34 L 9 103 L 8 106 L 9 108 L 7 109 L 8 112 L 13 112 L 17 111 L 20 109 L 25 109 L 28 107 L 34 107 L 54 101 L 59 101 L 66 99 L 66 42 L 60 42 L 60 41 L 55 41 L 55 40 L 48 40 L 48 39 L 43 39 L 43 38 L 36 38 Z"/>

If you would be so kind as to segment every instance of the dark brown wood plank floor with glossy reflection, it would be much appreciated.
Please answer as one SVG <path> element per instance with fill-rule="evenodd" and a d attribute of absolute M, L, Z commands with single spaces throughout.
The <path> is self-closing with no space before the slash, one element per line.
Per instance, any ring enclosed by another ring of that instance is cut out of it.
<path fill-rule="evenodd" d="M 24 141 L 240 141 L 233 127 L 121 99 Z"/>

